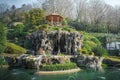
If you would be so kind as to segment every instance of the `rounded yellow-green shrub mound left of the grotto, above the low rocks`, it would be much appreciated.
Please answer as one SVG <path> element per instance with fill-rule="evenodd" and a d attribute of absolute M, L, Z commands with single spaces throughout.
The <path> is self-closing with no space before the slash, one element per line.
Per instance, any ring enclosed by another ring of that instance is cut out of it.
<path fill-rule="evenodd" d="M 7 42 L 7 48 L 5 49 L 6 53 L 11 53 L 11 54 L 23 54 L 26 53 L 26 49 L 22 48 L 14 43 Z"/>

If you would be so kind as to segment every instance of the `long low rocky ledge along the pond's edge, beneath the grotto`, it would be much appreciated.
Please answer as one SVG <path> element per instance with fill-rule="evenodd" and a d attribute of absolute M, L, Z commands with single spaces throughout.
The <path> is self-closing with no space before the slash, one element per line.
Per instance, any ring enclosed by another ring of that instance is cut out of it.
<path fill-rule="evenodd" d="M 73 58 L 75 59 L 73 61 Z M 8 59 L 8 58 L 7 58 Z M 90 70 L 102 71 L 102 60 L 103 58 L 98 58 L 92 55 L 86 56 L 83 54 L 75 56 L 45 56 L 45 55 L 31 55 L 22 54 L 16 58 L 10 58 L 7 60 L 10 67 L 23 67 L 28 69 L 37 69 L 41 64 L 51 65 L 51 64 L 65 64 L 69 62 L 76 62 L 79 67 L 86 67 Z"/>

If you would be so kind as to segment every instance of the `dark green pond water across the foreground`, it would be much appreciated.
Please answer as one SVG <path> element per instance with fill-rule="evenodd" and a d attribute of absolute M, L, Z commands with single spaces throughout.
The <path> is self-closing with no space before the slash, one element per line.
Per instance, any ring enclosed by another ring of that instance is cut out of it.
<path fill-rule="evenodd" d="M 34 70 L 1 69 L 0 80 L 120 80 L 120 69 L 107 68 L 104 72 L 82 70 L 64 75 L 37 75 Z"/>

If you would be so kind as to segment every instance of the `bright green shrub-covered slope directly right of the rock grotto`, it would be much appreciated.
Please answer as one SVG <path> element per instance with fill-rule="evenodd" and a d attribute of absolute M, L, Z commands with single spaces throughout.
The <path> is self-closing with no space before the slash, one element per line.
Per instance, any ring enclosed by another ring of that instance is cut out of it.
<path fill-rule="evenodd" d="M 96 56 L 108 55 L 107 50 L 102 47 L 101 42 L 89 33 L 84 33 L 83 50 L 87 50 L 88 53 L 94 52 Z"/>

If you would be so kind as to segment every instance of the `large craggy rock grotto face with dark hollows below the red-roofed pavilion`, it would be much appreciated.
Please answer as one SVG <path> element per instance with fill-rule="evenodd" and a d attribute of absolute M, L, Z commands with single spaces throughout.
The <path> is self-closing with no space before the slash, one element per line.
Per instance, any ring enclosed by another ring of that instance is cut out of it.
<path fill-rule="evenodd" d="M 27 36 L 31 50 L 37 54 L 49 53 L 74 55 L 81 49 L 83 35 L 68 31 L 37 31 Z"/>

